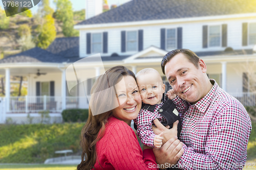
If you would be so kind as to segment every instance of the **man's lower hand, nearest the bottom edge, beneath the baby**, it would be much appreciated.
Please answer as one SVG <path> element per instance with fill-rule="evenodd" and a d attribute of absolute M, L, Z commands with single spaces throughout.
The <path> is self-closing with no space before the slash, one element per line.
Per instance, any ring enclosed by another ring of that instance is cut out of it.
<path fill-rule="evenodd" d="M 175 136 L 170 138 L 161 148 L 153 148 L 157 164 L 176 164 L 184 152 L 182 146 L 183 143 Z"/>

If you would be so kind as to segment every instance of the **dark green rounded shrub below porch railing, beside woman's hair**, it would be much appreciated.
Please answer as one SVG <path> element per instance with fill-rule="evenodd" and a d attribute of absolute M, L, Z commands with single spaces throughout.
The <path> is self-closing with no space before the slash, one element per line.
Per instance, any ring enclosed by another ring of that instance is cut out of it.
<path fill-rule="evenodd" d="M 62 118 L 64 122 L 84 122 L 88 119 L 89 110 L 88 109 L 67 109 L 63 110 Z"/>

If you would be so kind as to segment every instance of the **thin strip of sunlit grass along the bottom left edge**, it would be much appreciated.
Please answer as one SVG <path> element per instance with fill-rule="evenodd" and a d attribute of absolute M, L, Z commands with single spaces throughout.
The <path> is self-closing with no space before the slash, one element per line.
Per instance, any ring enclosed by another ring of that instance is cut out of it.
<path fill-rule="evenodd" d="M 1 170 L 74 170 L 77 165 L 50 164 L 0 164 Z"/>

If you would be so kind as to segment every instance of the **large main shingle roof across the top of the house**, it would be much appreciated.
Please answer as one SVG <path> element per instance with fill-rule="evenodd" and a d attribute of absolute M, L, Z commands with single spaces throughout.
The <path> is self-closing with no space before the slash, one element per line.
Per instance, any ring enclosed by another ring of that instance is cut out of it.
<path fill-rule="evenodd" d="M 255 12 L 256 0 L 133 0 L 77 25 Z"/>

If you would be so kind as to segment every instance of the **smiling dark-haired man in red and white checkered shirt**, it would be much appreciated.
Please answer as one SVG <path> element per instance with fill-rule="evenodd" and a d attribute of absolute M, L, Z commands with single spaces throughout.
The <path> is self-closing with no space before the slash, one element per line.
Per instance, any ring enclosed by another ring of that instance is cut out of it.
<path fill-rule="evenodd" d="M 161 67 L 173 87 L 168 95 L 182 122 L 184 153 L 172 158 L 180 157 L 176 165 L 181 169 L 243 169 L 251 132 L 251 120 L 243 105 L 215 80 L 208 79 L 204 61 L 190 50 L 167 53 Z M 154 123 L 157 135 L 164 132 L 163 141 L 177 135 L 158 120 Z M 164 148 L 154 150 L 159 164 L 170 162 L 165 157 L 170 152 L 165 149 L 166 143 Z"/>

